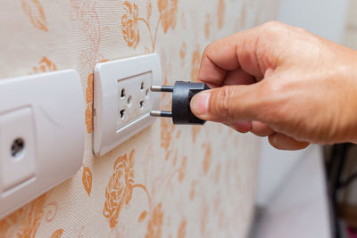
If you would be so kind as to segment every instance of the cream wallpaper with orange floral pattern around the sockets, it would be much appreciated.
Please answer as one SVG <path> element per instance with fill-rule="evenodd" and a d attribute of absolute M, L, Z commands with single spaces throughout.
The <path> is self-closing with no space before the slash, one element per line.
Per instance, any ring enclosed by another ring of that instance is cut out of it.
<path fill-rule="evenodd" d="M 0 237 L 245 237 L 259 143 L 214 123 L 158 119 L 92 153 L 93 68 L 158 53 L 162 84 L 196 80 L 206 45 L 274 20 L 278 0 L 13 0 L 0 9 L 0 78 L 79 71 L 86 151 L 78 174 L 0 221 Z M 1 79 L 0 79 L 1 80 Z M 170 95 L 162 94 L 162 109 Z"/>

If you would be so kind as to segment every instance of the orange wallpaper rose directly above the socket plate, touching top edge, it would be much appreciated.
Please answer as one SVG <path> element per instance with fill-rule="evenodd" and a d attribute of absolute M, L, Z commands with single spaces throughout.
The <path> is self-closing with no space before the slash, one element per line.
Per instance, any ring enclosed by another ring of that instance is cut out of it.
<path fill-rule="evenodd" d="M 137 4 L 130 4 L 128 1 L 124 2 L 124 9 L 127 14 L 121 18 L 121 32 L 125 42 L 133 49 L 137 48 L 140 40 L 139 29 L 137 28 Z"/>

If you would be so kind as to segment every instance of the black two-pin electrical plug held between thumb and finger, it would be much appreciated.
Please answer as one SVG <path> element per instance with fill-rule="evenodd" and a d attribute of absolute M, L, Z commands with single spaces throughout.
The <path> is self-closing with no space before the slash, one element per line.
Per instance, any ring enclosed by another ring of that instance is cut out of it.
<path fill-rule="evenodd" d="M 206 84 L 176 81 L 174 86 L 151 86 L 150 89 L 153 92 L 172 93 L 171 111 L 150 111 L 150 115 L 172 118 L 173 124 L 203 125 L 206 122 L 195 117 L 190 108 L 191 99 L 195 94 L 210 89 Z"/>

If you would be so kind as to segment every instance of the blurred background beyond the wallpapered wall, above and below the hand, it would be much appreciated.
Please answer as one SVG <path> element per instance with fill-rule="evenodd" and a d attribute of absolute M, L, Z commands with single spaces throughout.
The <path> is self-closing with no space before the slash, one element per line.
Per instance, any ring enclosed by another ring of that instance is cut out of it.
<path fill-rule="evenodd" d="M 278 21 L 357 49 L 357 0 L 281 1 Z M 262 147 L 251 238 L 357 237 L 356 145 Z"/>

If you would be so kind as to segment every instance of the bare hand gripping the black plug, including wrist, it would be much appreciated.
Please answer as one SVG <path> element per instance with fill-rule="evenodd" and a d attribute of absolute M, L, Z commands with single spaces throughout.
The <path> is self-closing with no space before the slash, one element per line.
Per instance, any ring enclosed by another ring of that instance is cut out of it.
<path fill-rule="evenodd" d="M 357 142 L 357 52 L 280 22 L 205 49 L 191 110 L 280 150 Z"/>

